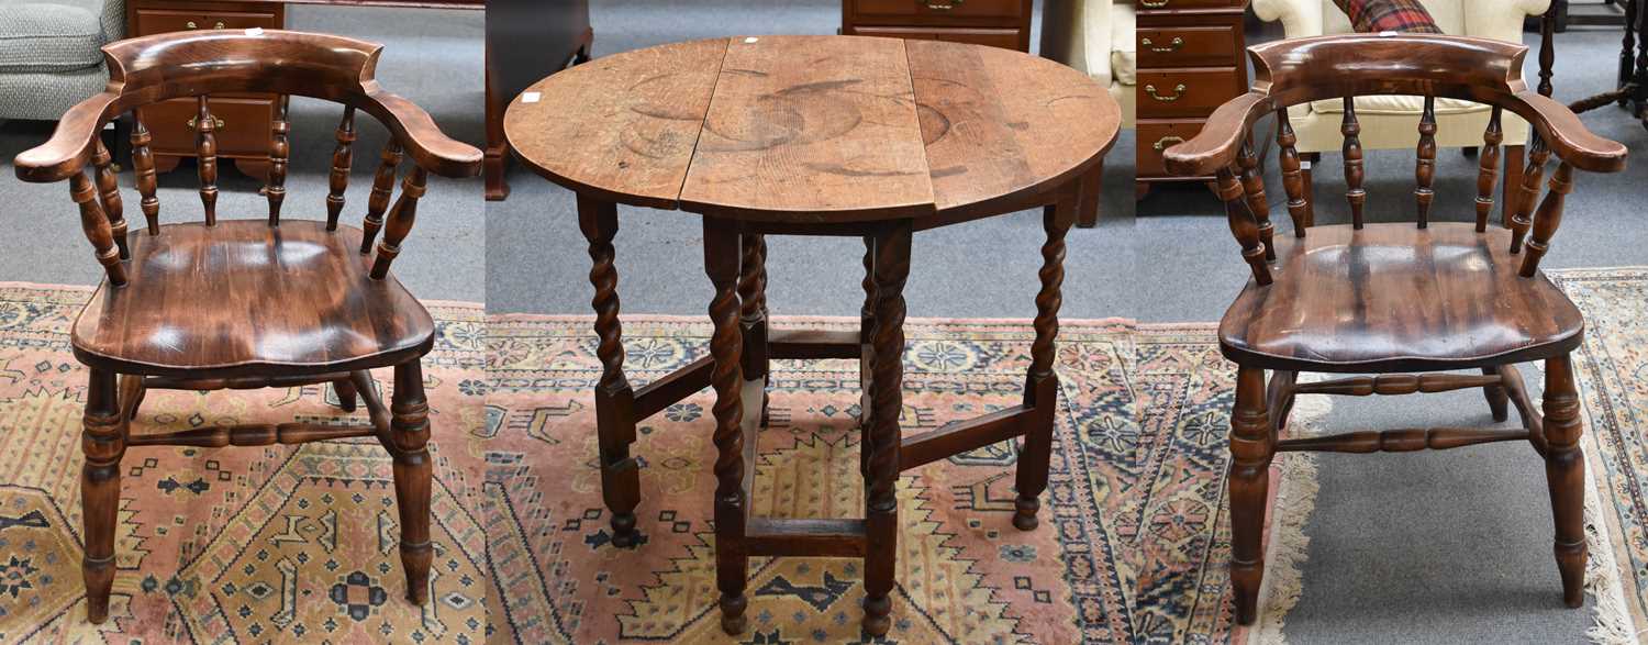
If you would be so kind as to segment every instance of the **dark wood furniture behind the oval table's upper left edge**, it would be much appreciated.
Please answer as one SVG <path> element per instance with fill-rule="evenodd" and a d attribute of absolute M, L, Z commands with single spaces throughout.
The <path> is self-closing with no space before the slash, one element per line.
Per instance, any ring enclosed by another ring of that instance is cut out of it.
<path fill-rule="evenodd" d="M 588 61 L 593 41 L 588 0 L 486 3 L 486 200 L 509 196 L 509 101 L 544 76 Z"/>

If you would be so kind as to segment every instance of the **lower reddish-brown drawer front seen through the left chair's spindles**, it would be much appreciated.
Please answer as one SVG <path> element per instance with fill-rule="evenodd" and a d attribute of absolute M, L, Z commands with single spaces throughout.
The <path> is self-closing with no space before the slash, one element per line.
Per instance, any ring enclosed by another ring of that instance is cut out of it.
<path fill-rule="evenodd" d="M 213 97 L 211 114 L 221 125 L 218 135 L 218 153 L 224 157 L 267 157 L 270 122 L 275 117 L 275 106 L 270 99 Z M 194 119 L 198 104 L 194 99 L 171 99 L 153 106 L 145 106 L 143 125 L 153 134 L 153 150 L 157 153 L 193 155 L 194 153 Z"/>

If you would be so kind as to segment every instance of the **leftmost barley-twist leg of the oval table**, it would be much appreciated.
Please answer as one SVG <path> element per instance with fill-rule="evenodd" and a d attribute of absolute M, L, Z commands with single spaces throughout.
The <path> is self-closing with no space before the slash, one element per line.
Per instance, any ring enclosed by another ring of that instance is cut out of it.
<path fill-rule="evenodd" d="M 595 386 L 595 426 L 602 452 L 602 498 L 613 513 L 613 546 L 641 541 L 634 530 L 634 506 L 641 503 L 639 464 L 630 457 L 634 444 L 634 389 L 623 374 L 623 330 L 618 323 L 618 269 L 613 266 L 613 236 L 618 234 L 618 205 L 578 196 L 578 228 L 590 242 L 590 284 L 595 285 L 595 348 L 602 379 Z"/>

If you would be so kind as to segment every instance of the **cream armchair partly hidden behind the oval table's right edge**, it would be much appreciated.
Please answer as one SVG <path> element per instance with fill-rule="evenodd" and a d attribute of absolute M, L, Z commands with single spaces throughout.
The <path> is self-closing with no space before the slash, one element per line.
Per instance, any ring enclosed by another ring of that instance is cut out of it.
<path fill-rule="evenodd" d="M 1134 127 L 1137 48 L 1134 5 L 1129 0 L 1045 0 L 1042 56 L 1065 63 L 1111 87 L 1122 109 L 1122 127 Z M 1099 216 L 1099 172 L 1083 181 L 1081 218 L 1093 226 Z"/>

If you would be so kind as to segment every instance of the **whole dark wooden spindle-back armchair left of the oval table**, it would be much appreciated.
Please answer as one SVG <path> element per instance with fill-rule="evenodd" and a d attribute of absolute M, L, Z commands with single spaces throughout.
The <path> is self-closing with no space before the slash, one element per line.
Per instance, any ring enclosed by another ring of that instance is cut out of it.
<path fill-rule="evenodd" d="M 473 177 L 481 152 L 447 139 L 424 111 L 372 81 L 381 48 L 349 38 L 269 30 L 213 30 L 124 40 L 104 48 L 110 84 L 74 106 L 44 145 L 16 157 L 25 181 L 69 180 L 81 228 L 105 279 L 73 328 L 91 368 L 81 475 L 87 617 L 109 615 L 120 459 L 129 445 L 270 445 L 372 435 L 394 457 L 407 597 L 428 599 L 430 435 L 420 356 L 435 340 L 428 312 L 389 272 L 412 229 L 428 173 Z M 269 214 L 218 221 L 216 106 L 208 94 L 277 96 L 269 140 Z M 326 221 L 282 219 L 290 157 L 287 96 L 339 102 Z M 143 107 L 191 101 L 199 119 L 199 223 L 160 224 L 155 137 Z M 392 134 L 372 181 L 364 229 L 339 226 L 354 115 Z M 102 125 L 135 114 L 133 172 L 143 226 L 129 231 Z M 389 206 L 404 155 L 412 168 Z M 86 172 L 87 162 L 92 175 Z M 92 178 L 96 177 L 96 178 Z M 386 214 L 387 210 L 387 214 Z M 372 244 L 377 234 L 382 239 Z M 368 370 L 394 368 L 386 407 Z M 244 389 L 331 383 L 369 426 L 249 424 L 133 434 L 148 389 Z"/>

